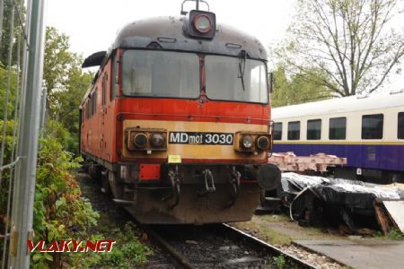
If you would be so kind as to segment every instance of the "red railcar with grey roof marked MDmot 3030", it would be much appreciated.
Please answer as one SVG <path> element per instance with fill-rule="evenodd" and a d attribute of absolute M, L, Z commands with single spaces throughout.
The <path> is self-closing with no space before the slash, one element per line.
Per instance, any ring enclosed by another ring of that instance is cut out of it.
<path fill-rule="evenodd" d="M 144 223 L 249 220 L 275 186 L 267 54 L 192 10 L 127 24 L 81 106 L 81 153 Z"/>

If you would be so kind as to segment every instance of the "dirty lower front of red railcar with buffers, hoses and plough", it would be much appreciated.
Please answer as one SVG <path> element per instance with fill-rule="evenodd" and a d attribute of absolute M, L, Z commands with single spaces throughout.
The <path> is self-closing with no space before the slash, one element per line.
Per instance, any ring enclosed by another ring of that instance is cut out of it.
<path fill-rule="evenodd" d="M 131 163 L 106 169 L 92 162 L 88 172 L 142 223 L 205 224 L 250 220 L 263 195 L 259 181 L 266 181 L 260 184 L 266 188 L 280 182 L 275 166 L 261 167 L 266 169 L 260 180 L 258 166 L 234 164 Z"/>

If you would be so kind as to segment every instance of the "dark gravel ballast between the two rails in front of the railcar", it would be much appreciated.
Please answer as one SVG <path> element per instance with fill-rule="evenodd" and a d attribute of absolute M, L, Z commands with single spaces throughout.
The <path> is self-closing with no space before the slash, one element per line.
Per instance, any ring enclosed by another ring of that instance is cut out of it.
<path fill-rule="evenodd" d="M 167 226 L 155 229 L 197 268 L 279 268 L 273 256 L 255 250 L 217 225 Z M 297 268 L 283 262 L 283 268 Z"/>

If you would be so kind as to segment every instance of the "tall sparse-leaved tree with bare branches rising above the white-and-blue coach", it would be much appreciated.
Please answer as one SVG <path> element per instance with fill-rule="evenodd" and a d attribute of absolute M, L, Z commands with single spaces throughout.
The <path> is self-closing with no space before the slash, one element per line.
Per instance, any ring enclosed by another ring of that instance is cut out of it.
<path fill-rule="evenodd" d="M 299 0 L 289 38 L 277 51 L 288 68 L 339 96 L 376 91 L 404 56 L 402 0 Z"/>

